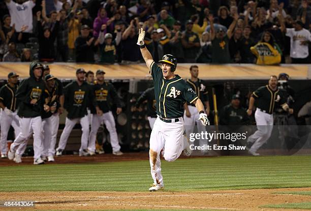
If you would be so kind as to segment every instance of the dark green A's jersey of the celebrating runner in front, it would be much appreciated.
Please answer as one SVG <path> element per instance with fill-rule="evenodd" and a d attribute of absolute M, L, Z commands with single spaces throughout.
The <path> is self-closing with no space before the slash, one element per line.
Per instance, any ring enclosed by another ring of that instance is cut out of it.
<path fill-rule="evenodd" d="M 154 96 L 159 116 L 170 119 L 182 117 L 183 104 L 193 103 L 198 99 L 196 92 L 180 76 L 165 79 L 161 67 L 154 61 L 150 65 L 150 74 L 154 81 Z"/>

